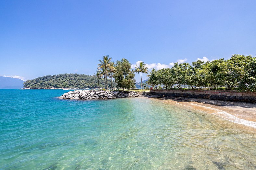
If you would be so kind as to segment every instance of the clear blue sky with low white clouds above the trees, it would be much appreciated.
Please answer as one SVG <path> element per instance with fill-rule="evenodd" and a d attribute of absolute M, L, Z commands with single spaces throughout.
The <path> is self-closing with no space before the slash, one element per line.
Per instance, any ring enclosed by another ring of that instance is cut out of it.
<path fill-rule="evenodd" d="M 93 75 L 106 54 L 158 69 L 255 56 L 255 30 L 255 0 L 2 0 L 0 76 Z"/>

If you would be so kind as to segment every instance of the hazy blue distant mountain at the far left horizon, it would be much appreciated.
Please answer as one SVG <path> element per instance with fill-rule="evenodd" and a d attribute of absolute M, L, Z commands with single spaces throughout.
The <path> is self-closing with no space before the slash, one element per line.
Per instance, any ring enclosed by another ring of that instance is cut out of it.
<path fill-rule="evenodd" d="M 0 88 L 23 88 L 23 80 L 0 76 Z"/>

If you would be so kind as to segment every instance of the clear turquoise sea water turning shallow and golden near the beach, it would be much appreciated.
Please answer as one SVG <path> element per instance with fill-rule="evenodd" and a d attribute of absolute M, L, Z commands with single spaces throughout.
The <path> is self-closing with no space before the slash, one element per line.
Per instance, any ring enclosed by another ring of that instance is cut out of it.
<path fill-rule="evenodd" d="M 256 169 L 256 136 L 143 97 L 59 100 L 0 89 L 0 169 Z"/>

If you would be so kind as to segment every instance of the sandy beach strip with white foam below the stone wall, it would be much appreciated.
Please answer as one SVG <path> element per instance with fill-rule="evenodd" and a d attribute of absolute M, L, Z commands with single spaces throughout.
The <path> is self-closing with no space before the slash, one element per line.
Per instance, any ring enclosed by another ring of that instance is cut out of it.
<path fill-rule="evenodd" d="M 236 123 L 244 129 L 252 129 L 256 132 L 256 104 L 244 102 L 228 102 L 200 98 L 168 99 L 159 96 L 147 96 L 161 100 L 166 104 L 182 105 L 191 109 L 219 116 L 223 119 Z"/>

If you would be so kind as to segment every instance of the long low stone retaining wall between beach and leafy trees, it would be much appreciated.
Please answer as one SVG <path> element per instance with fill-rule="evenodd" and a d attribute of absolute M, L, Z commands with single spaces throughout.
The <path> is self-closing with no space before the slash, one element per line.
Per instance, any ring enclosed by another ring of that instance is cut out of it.
<path fill-rule="evenodd" d="M 237 90 L 192 90 L 192 89 L 171 89 L 171 90 L 150 90 L 151 95 L 172 96 L 172 97 L 194 97 L 213 100 L 245 101 L 256 102 L 256 93 L 239 92 Z"/>

